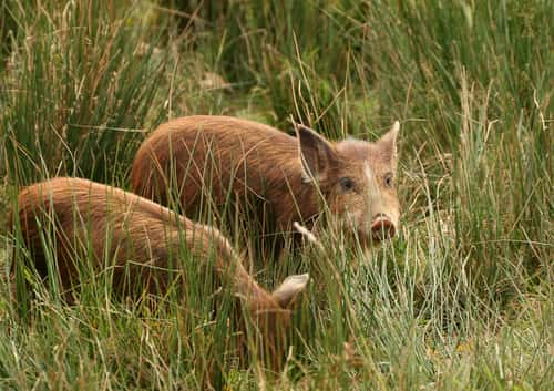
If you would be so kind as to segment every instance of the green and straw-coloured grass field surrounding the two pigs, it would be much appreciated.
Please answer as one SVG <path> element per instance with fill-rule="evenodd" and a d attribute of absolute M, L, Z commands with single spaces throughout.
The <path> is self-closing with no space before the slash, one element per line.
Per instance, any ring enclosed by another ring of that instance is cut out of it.
<path fill-rule="evenodd" d="M 2 0 L 0 40 L 0 389 L 554 389 L 552 1 Z M 277 379 L 228 354 L 202 278 L 186 311 L 9 300 L 18 187 L 129 188 L 147 132 L 189 114 L 402 124 L 397 239 L 256 270 L 312 277 Z"/>

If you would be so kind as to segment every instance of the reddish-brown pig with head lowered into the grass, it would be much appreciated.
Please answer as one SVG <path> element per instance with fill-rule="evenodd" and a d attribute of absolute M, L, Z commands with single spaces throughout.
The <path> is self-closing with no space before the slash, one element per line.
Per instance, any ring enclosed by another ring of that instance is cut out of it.
<path fill-rule="evenodd" d="M 163 295 L 176 281 L 186 284 L 187 276 L 179 274 L 185 269 L 183 265 L 179 269 L 183 251 L 186 259 L 212 265 L 217 281 L 226 284 L 252 315 L 259 331 L 256 336 L 267 352 L 266 362 L 277 367 L 289 325 L 287 308 L 305 288 L 307 275 L 290 276 L 269 294 L 248 275 L 217 229 L 86 179 L 59 177 L 25 187 L 19 194 L 17 214 L 38 274 L 42 278 L 50 275 L 47 251 L 52 253 L 60 285 L 70 301 L 74 287 L 82 282 L 79 263 L 86 259 L 93 260 L 94 272 L 112 272 L 113 289 L 122 295 Z M 44 248 L 43 238 L 49 234 L 53 248 Z M 208 264 L 208 258 L 213 263 Z M 18 269 L 12 265 L 12 274 Z"/>

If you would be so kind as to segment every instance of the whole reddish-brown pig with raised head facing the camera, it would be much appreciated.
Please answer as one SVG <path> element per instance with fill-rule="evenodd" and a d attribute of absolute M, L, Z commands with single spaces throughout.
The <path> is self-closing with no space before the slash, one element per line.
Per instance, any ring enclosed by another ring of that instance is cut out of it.
<path fill-rule="evenodd" d="M 226 203 L 230 192 L 242 209 L 253 199 L 289 231 L 294 222 L 311 228 L 328 206 L 332 219 L 365 246 L 399 229 L 396 191 L 400 124 L 375 143 L 330 142 L 296 126 L 296 137 L 229 116 L 185 116 L 162 124 L 140 147 L 131 172 L 134 192 L 167 204 L 176 191 L 184 210 L 209 199 Z"/>

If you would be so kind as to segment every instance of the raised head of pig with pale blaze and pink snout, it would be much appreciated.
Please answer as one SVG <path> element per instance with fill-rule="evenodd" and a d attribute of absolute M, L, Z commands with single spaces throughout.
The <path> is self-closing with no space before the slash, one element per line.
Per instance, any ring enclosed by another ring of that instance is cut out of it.
<path fill-rule="evenodd" d="M 331 217 L 357 235 L 363 247 L 392 238 L 399 229 L 399 130 L 397 121 L 376 143 L 355 138 L 331 143 L 297 126 L 304 181 L 319 187 Z"/>

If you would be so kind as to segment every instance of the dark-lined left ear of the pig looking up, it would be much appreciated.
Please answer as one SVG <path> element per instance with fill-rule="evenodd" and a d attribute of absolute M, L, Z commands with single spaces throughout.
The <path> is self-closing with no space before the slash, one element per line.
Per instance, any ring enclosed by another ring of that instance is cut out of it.
<path fill-rule="evenodd" d="M 337 162 L 332 145 L 305 125 L 296 125 L 305 182 L 325 181 Z"/>

